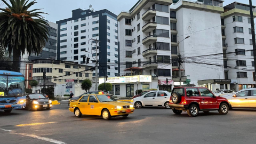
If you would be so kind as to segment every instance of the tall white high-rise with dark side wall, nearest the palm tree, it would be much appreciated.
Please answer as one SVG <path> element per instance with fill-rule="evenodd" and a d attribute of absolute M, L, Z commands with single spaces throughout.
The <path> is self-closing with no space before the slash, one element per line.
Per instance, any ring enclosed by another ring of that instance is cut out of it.
<path fill-rule="evenodd" d="M 57 59 L 82 64 L 83 57 L 90 58 L 88 65 L 95 66 L 96 54 L 101 65 L 98 75 L 118 76 L 118 22 L 108 10 L 73 10 L 72 17 L 57 21 Z M 97 39 L 97 45 L 92 39 Z M 85 61 L 86 62 L 86 61 Z M 102 69 L 103 68 L 103 69 Z M 95 76 L 95 72 L 93 74 Z"/>

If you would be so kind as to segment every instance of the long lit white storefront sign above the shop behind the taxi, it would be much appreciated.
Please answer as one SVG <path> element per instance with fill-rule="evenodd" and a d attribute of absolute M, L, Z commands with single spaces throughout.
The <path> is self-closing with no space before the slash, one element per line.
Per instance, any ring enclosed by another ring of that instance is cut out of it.
<path fill-rule="evenodd" d="M 151 82 L 151 76 L 123 76 L 109 77 L 106 83 L 136 83 L 136 82 Z M 104 83 L 104 78 L 99 78 L 99 84 Z"/>

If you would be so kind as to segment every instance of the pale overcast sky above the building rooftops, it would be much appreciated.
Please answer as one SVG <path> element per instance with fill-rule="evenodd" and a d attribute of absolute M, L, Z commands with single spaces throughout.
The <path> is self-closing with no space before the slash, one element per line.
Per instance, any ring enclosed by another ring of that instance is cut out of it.
<path fill-rule="evenodd" d="M 89 9 L 91 4 L 96 11 L 107 9 L 118 15 L 121 11 L 129 11 L 138 0 L 36 0 L 33 9 L 44 9 L 43 12 L 49 13 L 47 20 L 56 22 L 58 20 L 67 19 L 72 16 L 72 10 Z M 234 0 L 225 0 L 223 5 L 234 2 Z M 237 2 L 249 4 L 249 0 L 237 0 Z M 1 5 L 2 2 L 0 2 Z M 252 0 L 252 4 L 256 5 L 256 1 Z M 5 7 L 2 5 L 1 8 Z M 45 15 L 43 15 L 45 17 Z"/>

